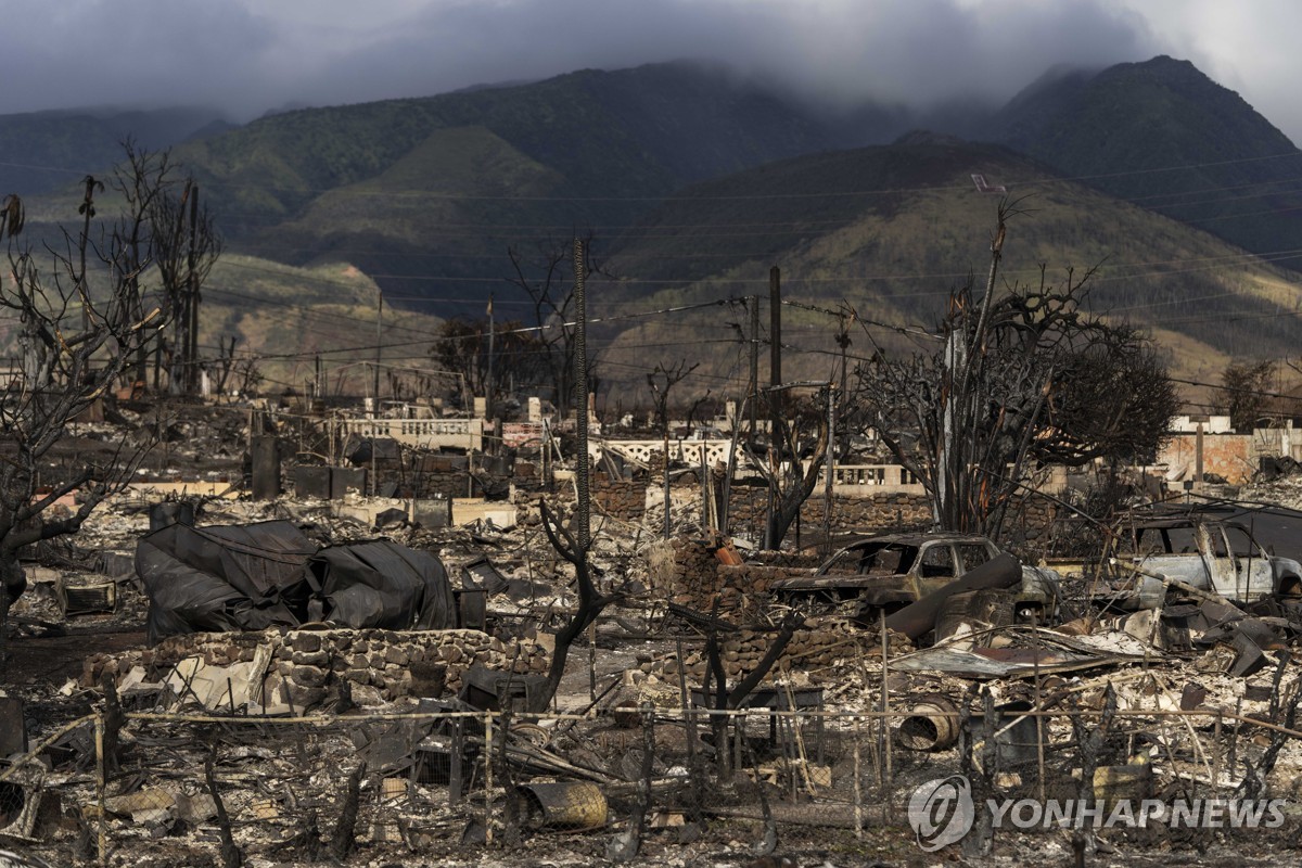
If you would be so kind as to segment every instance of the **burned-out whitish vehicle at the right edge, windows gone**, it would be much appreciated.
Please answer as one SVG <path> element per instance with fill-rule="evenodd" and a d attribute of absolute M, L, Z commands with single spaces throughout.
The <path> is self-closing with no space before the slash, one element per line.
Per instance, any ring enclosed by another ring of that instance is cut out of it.
<path fill-rule="evenodd" d="M 1302 597 L 1302 565 L 1267 552 L 1237 522 L 1150 519 L 1125 528 L 1121 539 L 1121 584 L 1112 600 L 1120 608 L 1161 606 L 1170 580 L 1241 604 Z"/>

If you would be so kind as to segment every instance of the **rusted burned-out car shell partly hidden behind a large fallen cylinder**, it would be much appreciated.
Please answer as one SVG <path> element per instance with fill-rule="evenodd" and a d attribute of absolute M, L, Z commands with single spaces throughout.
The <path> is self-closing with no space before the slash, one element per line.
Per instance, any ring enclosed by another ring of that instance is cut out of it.
<path fill-rule="evenodd" d="M 857 600 L 887 613 L 921 600 L 1000 554 L 975 534 L 892 534 L 841 549 L 812 575 L 775 582 L 779 597 L 805 604 Z M 1022 566 L 1016 588 L 1018 619 L 1043 621 L 1056 610 L 1057 574 Z"/>

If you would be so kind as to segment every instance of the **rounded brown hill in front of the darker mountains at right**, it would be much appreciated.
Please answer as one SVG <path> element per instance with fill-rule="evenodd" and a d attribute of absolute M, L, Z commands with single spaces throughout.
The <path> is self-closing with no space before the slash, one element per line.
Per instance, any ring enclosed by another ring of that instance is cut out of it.
<path fill-rule="evenodd" d="M 628 277 L 602 285 L 609 307 L 599 315 L 759 295 L 767 329 L 768 269 L 779 265 L 784 299 L 794 303 L 784 312 L 784 373 L 825 379 L 838 323 L 801 305 L 836 310 L 844 299 L 878 323 L 931 327 L 949 288 L 969 273 L 983 280 L 1001 197 L 978 191 L 973 174 L 1006 186 L 1027 212 L 1009 224 L 1004 281 L 1038 284 L 1042 263 L 1053 282 L 1069 268 L 1079 280 L 1099 265 L 1094 308 L 1148 328 L 1190 377 L 1219 377 L 1232 355 L 1295 353 L 1295 273 L 1059 180 L 1006 148 L 934 135 L 797 157 L 681 191 L 616 239 L 609 264 Z M 631 385 L 638 364 L 687 358 L 736 377 L 746 345 L 733 323 L 747 325 L 736 303 L 647 318 L 607 336 L 603 358 L 616 360 L 607 373 L 625 370 Z M 913 346 L 889 328 L 874 334 L 889 347 Z M 857 327 L 852 338 L 852 358 L 871 355 Z"/>

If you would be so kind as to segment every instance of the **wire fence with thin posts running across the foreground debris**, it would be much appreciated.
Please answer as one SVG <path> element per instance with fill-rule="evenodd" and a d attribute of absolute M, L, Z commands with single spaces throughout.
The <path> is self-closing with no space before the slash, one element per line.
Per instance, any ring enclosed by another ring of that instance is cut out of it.
<path fill-rule="evenodd" d="M 109 709 L 10 760 L 0 838 L 52 864 L 453 864 L 536 856 L 548 842 L 647 864 L 704 846 L 719 864 L 737 841 L 750 858 L 865 834 L 913 846 L 910 796 L 947 776 L 970 781 L 978 808 L 995 796 L 1286 795 L 1271 773 L 1302 733 L 1297 691 L 1277 692 L 1262 720 L 1118 708 L 1111 688 L 1096 707 L 973 690 L 854 713 L 781 686 L 733 711 L 700 694 L 583 716 L 435 700 L 408 714 L 279 718 Z M 982 834 L 978 822 L 969 839 Z"/>

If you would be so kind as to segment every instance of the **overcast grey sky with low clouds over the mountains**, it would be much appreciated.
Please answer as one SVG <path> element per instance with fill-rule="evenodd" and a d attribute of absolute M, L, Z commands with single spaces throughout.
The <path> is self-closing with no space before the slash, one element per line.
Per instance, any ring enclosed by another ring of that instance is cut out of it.
<path fill-rule="evenodd" d="M 829 100 L 1006 99 L 1055 64 L 1193 61 L 1302 142 L 1297 0 L 0 0 L 0 113 L 424 96 L 713 59 Z"/>

